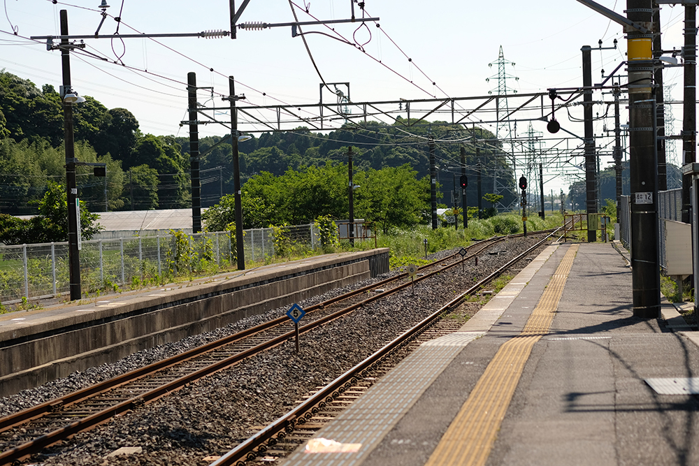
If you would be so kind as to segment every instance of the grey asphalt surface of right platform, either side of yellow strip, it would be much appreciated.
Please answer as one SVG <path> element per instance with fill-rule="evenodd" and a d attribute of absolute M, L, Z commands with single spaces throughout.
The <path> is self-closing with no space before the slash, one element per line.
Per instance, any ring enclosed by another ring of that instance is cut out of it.
<path fill-rule="evenodd" d="M 570 247 L 556 248 L 370 453 L 359 461 L 342 453 L 327 464 L 426 464 L 500 346 L 524 328 Z M 699 392 L 699 379 L 687 380 L 699 377 L 698 333 L 670 319 L 633 317 L 628 261 L 609 243 L 578 247 L 549 333 L 533 346 L 485 464 L 699 465 L 699 403 L 689 393 Z M 675 312 L 669 303 L 665 311 Z M 658 393 L 648 379 L 676 393 Z M 688 384 L 689 392 L 682 388 Z"/>

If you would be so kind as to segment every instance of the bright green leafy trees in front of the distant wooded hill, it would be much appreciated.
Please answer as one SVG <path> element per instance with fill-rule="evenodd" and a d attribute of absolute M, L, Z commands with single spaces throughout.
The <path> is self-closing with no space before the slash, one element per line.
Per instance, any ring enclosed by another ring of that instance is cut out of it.
<path fill-rule="evenodd" d="M 429 177 L 417 179 L 410 164 L 381 170 L 358 170 L 353 184 L 355 218 L 375 221 L 386 232 L 391 226 L 424 223 L 430 207 Z M 343 163 L 328 162 L 276 177 L 254 175 L 243 187 L 243 228 L 308 224 L 325 215 L 347 219 L 349 176 Z M 209 231 L 223 231 L 234 221 L 234 198 L 227 194 L 204 213 Z"/>

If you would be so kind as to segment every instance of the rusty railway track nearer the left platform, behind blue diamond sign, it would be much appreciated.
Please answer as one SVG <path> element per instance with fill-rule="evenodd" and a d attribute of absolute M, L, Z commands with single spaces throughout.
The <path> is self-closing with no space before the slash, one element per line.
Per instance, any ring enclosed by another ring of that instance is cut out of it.
<path fill-rule="evenodd" d="M 531 233 L 533 234 L 533 233 Z M 504 238 L 493 238 L 468 248 L 470 259 Z M 455 267 L 461 254 L 419 268 L 416 281 Z M 407 274 L 384 280 L 308 307 L 308 319 L 301 327 L 305 333 L 338 319 L 373 300 L 395 293 L 411 282 Z M 381 289 L 382 291 L 377 291 Z M 367 298 L 368 296 L 368 298 Z M 294 335 L 286 317 L 274 319 L 217 342 L 203 345 L 173 358 L 142 367 L 101 384 L 76 391 L 62 398 L 0 419 L 0 464 L 10 464 L 31 456 L 46 446 L 61 442 L 78 432 L 105 423 L 113 416 L 157 400 L 191 381 L 229 367 L 260 351 L 281 344 Z"/>

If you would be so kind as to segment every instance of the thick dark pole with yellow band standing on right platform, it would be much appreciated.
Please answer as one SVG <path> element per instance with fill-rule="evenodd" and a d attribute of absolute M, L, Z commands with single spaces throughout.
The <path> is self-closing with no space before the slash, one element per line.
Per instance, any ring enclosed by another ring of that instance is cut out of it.
<path fill-rule="evenodd" d="M 633 315 L 644 319 L 658 318 L 661 308 L 652 7 L 652 0 L 626 1 L 628 19 L 649 29 L 626 28 Z"/>

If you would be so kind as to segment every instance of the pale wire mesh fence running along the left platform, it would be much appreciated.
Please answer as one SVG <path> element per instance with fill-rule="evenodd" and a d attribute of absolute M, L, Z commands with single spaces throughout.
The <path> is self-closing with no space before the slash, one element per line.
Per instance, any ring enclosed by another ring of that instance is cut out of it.
<path fill-rule="evenodd" d="M 93 293 L 158 277 L 217 272 L 236 263 L 235 240 L 235 234 L 231 238 L 224 231 L 82 241 L 82 290 Z M 256 228 L 245 230 L 243 241 L 245 261 L 259 263 L 280 248 L 315 249 L 319 232 L 312 224 Z M 0 304 L 60 296 L 69 289 L 67 242 L 0 245 Z"/>

